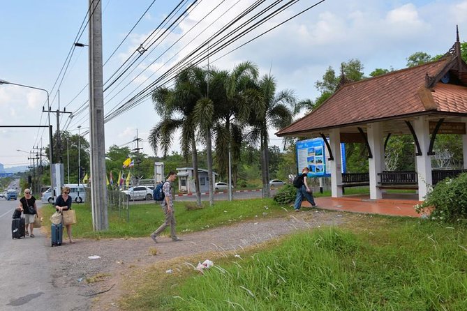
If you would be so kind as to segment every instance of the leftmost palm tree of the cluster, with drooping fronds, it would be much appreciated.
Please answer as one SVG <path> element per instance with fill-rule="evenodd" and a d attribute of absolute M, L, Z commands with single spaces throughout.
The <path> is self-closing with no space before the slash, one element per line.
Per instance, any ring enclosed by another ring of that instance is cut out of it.
<path fill-rule="evenodd" d="M 181 152 L 185 158 L 191 152 L 193 177 L 198 206 L 201 206 L 200 181 L 198 176 L 198 151 L 195 132 L 197 125 L 193 116 L 195 105 L 203 98 L 205 72 L 198 67 L 181 70 L 174 89 L 158 88 L 152 94 L 154 109 L 162 120 L 149 132 L 149 144 L 156 153 L 160 148 L 164 156 L 172 145 L 176 130 L 181 130 Z"/>

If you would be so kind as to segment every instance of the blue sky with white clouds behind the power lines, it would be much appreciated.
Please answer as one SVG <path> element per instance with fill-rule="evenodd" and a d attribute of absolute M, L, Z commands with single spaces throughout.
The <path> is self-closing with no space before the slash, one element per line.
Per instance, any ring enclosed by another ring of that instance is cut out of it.
<path fill-rule="evenodd" d="M 110 86 L 104 92 L 105 114 L 159 81 L 166 70 L 197 51 L 255 2 L 101 0 L 103 75 L 105 87 Z M 242 29 L 239 24 L 247 17 L 273 2 L 265 1 L 230 29 Z M 408 56 L 415 52 L 447 52 L 456 39 L 457 24 L 461 41 L 467 41 L 467 0 L 325 0 L 310 8 L 318 2 L 297 1 L 219 52 L 214 52 L 216 40 L 212 39 L 209 66 L 232 70 L 251 61 L 260 75 L 275 77 L 278 91 L 290 89 L 299 100 L 315 99 L 320 93 L 314 85 L 329 66 L 339 72 L 343 61 L 359 59 L 366 75 L 375 68 L 405 68 Z M 168 24 L 159 27 L 179 3 L 182 11 L 193 5 L 184 15 L 181 11 L 176 14 L 181 17 L 172 28 Z M 0 79 L 47 90 L 52 110 L 73 112 L 72 119 L 70 114 L 62 114 L 59 122 L 61 130 L 72 134 L 89 130 L 88 7 L 89 1 L 16 0 L 3 1 L 0 10 Z M 297 17 L 281 24 L 294 15 Z M 265 34 L 255 38 L 261 33 Z M 75 42 L 84 47 L 73 47 Z M 140 45 L 147 51 L 135 54 Z M 140 56 L 136 59 L 135 55 Z M 202 61 L 200 66 L 207 63 Z M 47 109 L 46 99 L 42 90 L 0 85 L 0 125 L 47 125 L 47 113 L 42 112 L 44 106 Z M 50 119 L 56 130 L 55 114 L 50 114 Z M 133 149 L 132 141 L 138 135 L 143 139 L 142 152 L 154 155 L 147 137 L 160 120 L 150 97 L 140 101 L 105 123 L 106 151 L 112 145 Z M 276 130 L 269 130 L 270 142 L 280 145 Z M 89 135 L 85 137 L 89 139 Z M 175 135 L 171 151 L 179 151 L 178 137 Z M 0 128 L 0 163 L 5 167 L 28 165 L 29 151 L 48 143 L 43 128 Z M 161 151 L 157 155 L 162 155 Z"/>

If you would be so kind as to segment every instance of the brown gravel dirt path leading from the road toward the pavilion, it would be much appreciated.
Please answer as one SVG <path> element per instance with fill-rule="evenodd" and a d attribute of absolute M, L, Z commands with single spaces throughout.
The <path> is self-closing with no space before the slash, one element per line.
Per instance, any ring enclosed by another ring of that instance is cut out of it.
<path fill-rule="evenodd" d="M 190 257 L 205 252 L 237 250 L 289 234 L 297 229 L 341 225 L 352 217 L 354 216 L 348 213 L 305 210 L 300 213 L 290 212 L 283 218 L 259 218 L 228 227 L 179 234 L 183 239 L 180 242 L 172 242 L 165 236 L 158 238 L 159 243 L 154 243 L 149 237 L 77 240 L 73 245 L 67 243 L 50 250 L 50 261 L 56 267 L 54 285 L 70 287 L 71 290 L 82 296 L 89 296 L 90 299 L 98 297 L 92 305 L 92 310 L 118 310 L 115 303 L 124 293 L 121 276 L 129 267 L 141 268 L 158 261 Z M 168 232 L 168 229 L 166 231 Z M 156 256 L 149 254 L 150 248 L 156 248 Z M 91 255 L 100 258 L 89 259 Z M 100 274 L 105 276 L 104 282 L 93 285 L 85 282 L 86 278 Z M 94 295 L 105 290 L 108 291 Z"/>

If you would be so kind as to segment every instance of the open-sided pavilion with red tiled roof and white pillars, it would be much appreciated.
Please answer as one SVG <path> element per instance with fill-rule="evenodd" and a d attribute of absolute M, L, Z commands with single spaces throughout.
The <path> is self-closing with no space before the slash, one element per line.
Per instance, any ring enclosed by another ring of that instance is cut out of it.
<path fill-rule="evenodd" d="M 467 64 L 461 59 L 457 32 L 457 41 L 438 61 L 359 82 L 346 82 L 342 76 L 334 95 L 276 135 L 324 139 L 332 197 L 342 197 L 346 185 L 363 181 L 369 185 L 370 199 L 381 199 L 384 188 L 399 187 L 417 188 L 423 201 L 432 185 L 467 169 L 466 122 Z M 464 169 L 432 169 L 437 134 L 461 134 Z M 385 146 L 391 135 L 413 136 L 415 172 L 385 170 Z M 341 142 L 366 145 L 369 172 L 364 179 L 341 174 Z"/>

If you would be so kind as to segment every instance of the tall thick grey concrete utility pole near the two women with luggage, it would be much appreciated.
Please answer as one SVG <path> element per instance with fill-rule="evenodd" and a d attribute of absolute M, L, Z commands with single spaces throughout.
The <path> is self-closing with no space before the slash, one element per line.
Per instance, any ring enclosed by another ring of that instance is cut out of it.
<path fill-rule="evenodd" d="M 91 206 L 94 231 L 109 228 L 105 187 L 104 97 L 101 1 L 89 0 L 89 140 L 91 144 Z"/>

